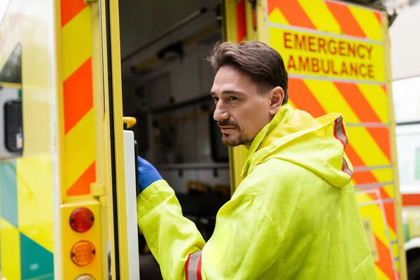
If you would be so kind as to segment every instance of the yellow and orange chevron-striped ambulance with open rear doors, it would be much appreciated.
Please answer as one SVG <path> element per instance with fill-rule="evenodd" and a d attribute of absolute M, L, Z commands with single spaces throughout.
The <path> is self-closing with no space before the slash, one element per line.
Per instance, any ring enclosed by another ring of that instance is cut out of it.
<path fill-rule="evenodd" d="M 289 102 L 342 113 L 378 279 L 407 279 L 390 41 L 380 1 L 9 0 L 0 23 L 4 279 L 162 279 L 137 227 L 137 155 L 208 240 L 246 148 L 221 145 L 205 60 L 279 51 Z M 356 246 L 356 244 L 355 244 Z"/>

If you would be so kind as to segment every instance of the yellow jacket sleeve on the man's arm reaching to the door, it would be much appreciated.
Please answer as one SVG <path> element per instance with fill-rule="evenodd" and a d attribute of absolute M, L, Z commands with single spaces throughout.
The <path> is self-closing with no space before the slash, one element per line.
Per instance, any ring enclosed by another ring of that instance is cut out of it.
<path fill-rule="evenodd" d="M 164 279 L 258 279 L 278 263 L 274 222 L 251 197 L 234 195 L 218 211 L 207 244 L 164 180 L 137 197 L 137 218 Z"/>

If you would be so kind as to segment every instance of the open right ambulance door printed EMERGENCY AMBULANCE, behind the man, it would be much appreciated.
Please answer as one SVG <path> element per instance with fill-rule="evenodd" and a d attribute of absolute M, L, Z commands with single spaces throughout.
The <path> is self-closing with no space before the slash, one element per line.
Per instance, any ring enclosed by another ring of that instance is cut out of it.
<path fill-rule="evenodd" d="M 378 279 L 407 279 L 386 12 L 330 0 L 225 0 L 222 6 L 225 41 L 258 40 L 279 51 L 293 108 L 314 117 L 343 114 Z M 233 192 L 246 148 L 229 151 Z"/>

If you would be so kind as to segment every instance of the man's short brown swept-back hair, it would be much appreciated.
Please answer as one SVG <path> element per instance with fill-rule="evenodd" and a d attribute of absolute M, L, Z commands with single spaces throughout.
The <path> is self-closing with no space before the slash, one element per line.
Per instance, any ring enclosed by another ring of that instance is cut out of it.
<path fill-rule="evenodd" d="M 235 66 L 259 85 L 260 94 L 279 86 L 284 91 L 283 104 L 288 101 L 288 74 L 283 58 L 274 48 L 260 41 L 218 43 L 208 58 L 215 71 L 222 66 Z"/>

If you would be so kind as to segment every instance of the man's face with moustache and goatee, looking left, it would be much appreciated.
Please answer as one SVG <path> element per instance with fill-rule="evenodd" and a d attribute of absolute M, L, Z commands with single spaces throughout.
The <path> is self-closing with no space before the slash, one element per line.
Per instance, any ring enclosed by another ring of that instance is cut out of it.
<path fill-rule="evenodd" d="M 262 127 L 272 120 L 270 94 L 258 94 L 258 85 L 234 66 L 222 66 L 216 73 L 211 96 L 216 104 L 214 120 L 226 146 L 249 148 Z"/>

